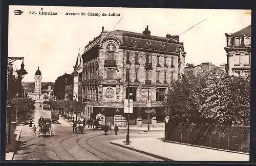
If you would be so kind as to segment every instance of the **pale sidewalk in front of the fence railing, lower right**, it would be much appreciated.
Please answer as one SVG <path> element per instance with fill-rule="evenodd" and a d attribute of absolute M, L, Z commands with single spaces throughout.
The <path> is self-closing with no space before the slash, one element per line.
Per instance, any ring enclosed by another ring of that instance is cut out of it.
<path fill-rule="evenodd" d="M 130 145 L 122 140 L 111 142 L 123 148 L 151 155 L 163 160 L 174 161 L 249 161 L 249 155 L 206 149 L 175 143 L 166 143 L 156 137 L 131 139 Z"/>

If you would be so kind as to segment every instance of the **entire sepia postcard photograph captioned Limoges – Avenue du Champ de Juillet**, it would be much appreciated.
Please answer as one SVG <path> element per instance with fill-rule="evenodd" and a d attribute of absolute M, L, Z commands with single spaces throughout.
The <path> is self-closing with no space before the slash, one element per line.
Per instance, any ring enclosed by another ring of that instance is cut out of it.
<path fill-rule="evenodd" d="M 249 161 L 251 10 L 9 6 L 6 160 Z"/>

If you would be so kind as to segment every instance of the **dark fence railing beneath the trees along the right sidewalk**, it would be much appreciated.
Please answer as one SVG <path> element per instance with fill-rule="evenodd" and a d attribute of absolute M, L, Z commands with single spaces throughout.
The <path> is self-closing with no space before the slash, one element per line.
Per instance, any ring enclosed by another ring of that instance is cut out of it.
<path fill-rule="evenodd" d="M 228 127 L 225 130 L 214 128 L 213 132 L 195 131 L 195 125 L 184 130 L 180 124 L 175 129 L 165 124 L 165 140 L 193 144 L 211 148 L 249 153 L 250 151 L 250 127 Z"/>

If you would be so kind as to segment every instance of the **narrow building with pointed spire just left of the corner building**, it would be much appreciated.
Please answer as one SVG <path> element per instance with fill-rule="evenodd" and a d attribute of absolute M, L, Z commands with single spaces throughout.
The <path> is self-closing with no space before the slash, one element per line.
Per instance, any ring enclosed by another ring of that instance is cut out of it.
<path fill-rule="evenodd" d="M 80 48 L 74 66 L 74 87 L 73 87 L 73 100 L 82 102 L 82 58 L 80 55 Z"/>

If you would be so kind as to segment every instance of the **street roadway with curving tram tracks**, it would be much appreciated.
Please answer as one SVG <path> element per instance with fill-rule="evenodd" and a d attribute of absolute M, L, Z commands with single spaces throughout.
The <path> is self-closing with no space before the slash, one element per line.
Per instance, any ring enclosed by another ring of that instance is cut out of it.
<path fill-rule="evenodd" d="M 51 112 L 36 105 L 33 125 L 38 125 L 40 116 L 50 118 Z M 161 134 L 155 132 L 156 135 Z M 26 124 L 22 129 L 20 145 L 13 160 L 160 160 L 110 144 L 113 140 L 125 141 L 126 130 L 119 130 L 118 135 L 115 135 L 113 130 L 109 131 L 109 135 L 103 133 L 102 130 L 86 127 L 83 134 L 75 134 L 72 132 L 71 124 L 59 118 L 59 123 L 53 124 L 51 137 L 38 137 L 33 135 L 32 128 Z M 148 136 L 138 134 L 135 130 L 130 131 L 130 137 Z"/>

